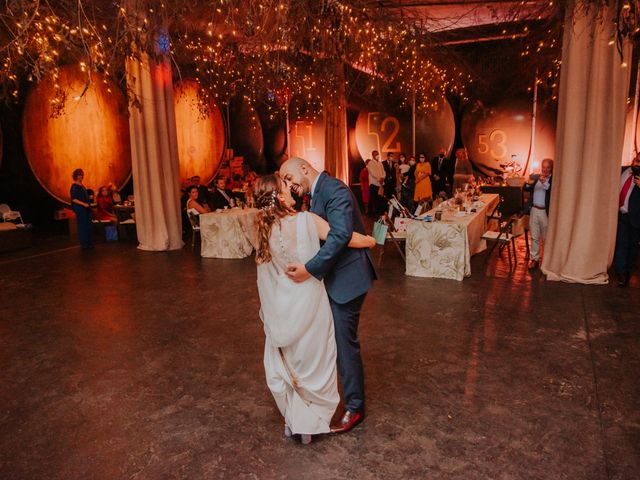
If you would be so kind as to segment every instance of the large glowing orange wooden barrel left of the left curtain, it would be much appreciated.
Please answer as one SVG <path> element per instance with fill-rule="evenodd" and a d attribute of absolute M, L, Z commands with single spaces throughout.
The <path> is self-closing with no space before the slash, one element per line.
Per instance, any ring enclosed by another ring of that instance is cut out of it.
<path fill-rule="evenodd" d="M 86 73 L 77 65 L 60 69 L 57 84 L 64 110 L 52 115 L 56 80 L 38 83 L 27 96 L 22 138 L 36 179 L 58 200 L 69 203 L 71 173 L 85 172 L 84 184 L 97 191 L 113 182 L 124 186 L 131 176 L 127 102 L 111 80 L 93 72 L 83 94 Z"/>

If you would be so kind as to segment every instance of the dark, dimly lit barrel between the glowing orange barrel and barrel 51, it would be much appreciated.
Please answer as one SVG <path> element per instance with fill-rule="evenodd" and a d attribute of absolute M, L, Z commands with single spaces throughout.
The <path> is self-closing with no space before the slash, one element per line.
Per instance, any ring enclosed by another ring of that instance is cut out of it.
<path fill-rule="evenodd" d="M 244 157 L 244 164 L 265 173 L 264 139 L 262 125 L 255 109 L 246 101 L 231 102 L 231 148 L 235 156 Z"/>

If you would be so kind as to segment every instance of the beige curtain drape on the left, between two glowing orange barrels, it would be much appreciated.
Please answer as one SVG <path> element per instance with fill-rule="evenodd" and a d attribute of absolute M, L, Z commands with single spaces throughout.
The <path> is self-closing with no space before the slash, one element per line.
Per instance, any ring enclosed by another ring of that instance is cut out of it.
<path fill-rule="evenodd" d="M 128 59 L 126 70 L 140 102 L 129 109 L 138 248 L 176 250 L 183 243 L 171 68 L 142 54 Z"/>

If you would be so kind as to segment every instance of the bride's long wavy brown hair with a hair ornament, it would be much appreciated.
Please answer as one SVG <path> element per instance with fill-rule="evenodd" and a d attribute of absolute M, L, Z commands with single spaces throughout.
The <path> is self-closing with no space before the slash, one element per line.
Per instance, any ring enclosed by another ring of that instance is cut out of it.
<path fill-rule="evenodd" d="M 256 249 L 256 263 L 269 263 L 271 261 L 271 251 L 269 250 L 269 238 L 273 225 L 280 224 L 280 219 L 291 215 L 292 210 L 283 205 L 278 199 L 278 194 L 282 191 L 284 182 L 277 175 L 265 175 L 258 179 L 254 190 L 256 208 L 258 216 L 256 225 L 258 227 L 258 248 Z"/>

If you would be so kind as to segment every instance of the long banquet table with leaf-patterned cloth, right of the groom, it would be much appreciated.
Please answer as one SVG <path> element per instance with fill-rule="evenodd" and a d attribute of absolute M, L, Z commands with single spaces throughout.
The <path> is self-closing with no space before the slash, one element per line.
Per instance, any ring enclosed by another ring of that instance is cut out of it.
<path fill-rule="evenodd" d="M 465 215 L 446 215 L 442 221 L 407 222 L 406 275 L 449 278 L 461 281 L 471 275 L 471 256 L 487 248 L 482 235 L 487 215 L 500 201 L 499 195 L 483 194 L 482 206 Z M 434 216 L 435 210 L 428 212 Z"/>

